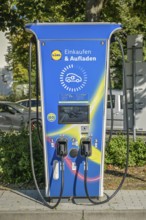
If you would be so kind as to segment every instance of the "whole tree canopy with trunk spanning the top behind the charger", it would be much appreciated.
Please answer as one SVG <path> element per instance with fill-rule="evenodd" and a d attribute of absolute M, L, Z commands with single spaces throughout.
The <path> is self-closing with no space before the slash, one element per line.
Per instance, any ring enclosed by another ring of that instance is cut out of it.
<path fill-rule="evenodd" d="M 1 0 L 0 30 L 9 30 L 13 45 L 9 63 L 15 80 L 28 77 L 28 42 L 25 24 L 39 22 L 120 22 L 126 34 L 146 33 L 146 1 L 140 0 Z M 122 32 L 121 32 L 122 33 Z M 121 33 L 119 35 L 121 36 Z M 122 40 L 126 48 L 126 38 Z M 111 66 L 120 69 L 121 55 L 113 46 Z M 12 61 L 11 61 L 12 60 Z M 35 65 L 33 65 L 33 71 Z M 118 76 L 119 78 L 119 76 Z M 117 86 L 117 85 L 116 85 Z"/>

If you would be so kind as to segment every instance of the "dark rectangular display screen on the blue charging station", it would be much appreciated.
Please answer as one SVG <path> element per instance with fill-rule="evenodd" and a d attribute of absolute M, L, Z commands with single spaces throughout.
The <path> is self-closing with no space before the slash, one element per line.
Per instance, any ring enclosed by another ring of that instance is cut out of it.
<path fill-rule="evenodd" d="M 89 124 L 89 106 L 58 106 L 59 124 Z"/>

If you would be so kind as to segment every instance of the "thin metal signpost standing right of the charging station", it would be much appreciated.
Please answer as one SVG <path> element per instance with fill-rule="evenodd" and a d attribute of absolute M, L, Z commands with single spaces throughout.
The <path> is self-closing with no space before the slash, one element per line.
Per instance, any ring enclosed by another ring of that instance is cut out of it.
<path fill-rule="evenodd" d="M 136 104 L 135 104 L 135 86 L 136 86 L 136 46 L 132 46 L 132 102 L 133 102 L 133 141 L 136 141 Z"/>

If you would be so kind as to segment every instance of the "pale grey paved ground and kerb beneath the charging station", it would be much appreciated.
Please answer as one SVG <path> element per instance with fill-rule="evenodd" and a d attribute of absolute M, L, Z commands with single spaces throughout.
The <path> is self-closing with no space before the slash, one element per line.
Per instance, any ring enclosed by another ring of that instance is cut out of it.
<path fill-rule="evenodd" d="M 110 195 L 113 191 L 106 191 Z M 0 190 L 0 220 L 146 220 L 146 190 L 122 190 L 103 205 L 62 202 L 55 210 L 41 204 L 36 190 Z"/>

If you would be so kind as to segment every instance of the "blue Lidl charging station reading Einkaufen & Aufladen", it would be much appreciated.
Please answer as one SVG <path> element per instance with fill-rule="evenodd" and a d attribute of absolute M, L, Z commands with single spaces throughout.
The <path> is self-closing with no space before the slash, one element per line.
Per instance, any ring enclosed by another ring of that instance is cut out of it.
<path fill-rule="evenodd" d="M 46 197 L 103 196 L 109 47 L 116 23 L 36 23 Z M 64 166 L 60 157 L 63 156 Z"/>

